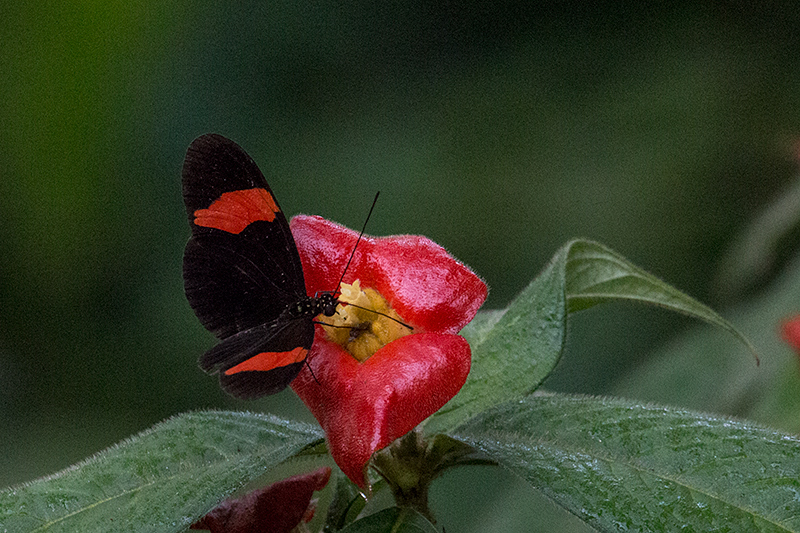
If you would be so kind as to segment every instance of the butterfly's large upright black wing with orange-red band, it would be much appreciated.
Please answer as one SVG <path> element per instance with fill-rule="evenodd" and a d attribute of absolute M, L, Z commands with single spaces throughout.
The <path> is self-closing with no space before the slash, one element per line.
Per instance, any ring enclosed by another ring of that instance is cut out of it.
<path fill-rule="evenodd" d="M 183 198 L 192 237 L 186 245 L 186 297 L 219 338 L 271 322 L 305 296 L 289 224 L 247 153 L 220 135 L 189 146 Z"/>

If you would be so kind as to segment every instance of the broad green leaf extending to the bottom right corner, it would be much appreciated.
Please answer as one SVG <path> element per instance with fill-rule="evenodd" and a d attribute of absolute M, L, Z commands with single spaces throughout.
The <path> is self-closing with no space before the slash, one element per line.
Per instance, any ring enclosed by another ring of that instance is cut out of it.
<path fill-rule="evenodd" d="M 800 440 L 745 422 L 549 395 L 455 437 L 601 531 L 800 531 Z"/>

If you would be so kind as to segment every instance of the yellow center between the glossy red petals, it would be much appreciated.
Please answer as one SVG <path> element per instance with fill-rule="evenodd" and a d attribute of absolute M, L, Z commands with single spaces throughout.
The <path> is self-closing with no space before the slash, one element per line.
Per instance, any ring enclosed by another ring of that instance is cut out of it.
<path fill-rule="evenodd" d="M 342 283 L 340 293 L 342 303 L 336 307 L 336 314 L 321 316 L 320 322 L 331 326 L 325 328 L 328 340 L 342 346 L 359 362 L 412 332 L 383 296 L 374 289 L 362 289 L 360 280 L 352 285 Z"/>

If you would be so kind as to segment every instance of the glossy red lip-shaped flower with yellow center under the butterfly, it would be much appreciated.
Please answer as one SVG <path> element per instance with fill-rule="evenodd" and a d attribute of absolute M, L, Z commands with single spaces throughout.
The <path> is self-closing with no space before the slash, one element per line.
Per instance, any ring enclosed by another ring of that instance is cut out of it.
<path fill-rule="evenodd" d="M 358 233 L 311 216 L 295 217 L 291 228 L 308 294 L 335 290 Z M 344 327 L 317 326 L 310 371 L 304 368 L 292 388 L 325 430 L 336 463 L 366 488 L 372 454 L 435 413 L 466 381 L 471 352 L 457 333 L 487 288 L 444 248 L 411 235 L 362 237 L 343 282 L 340 301 L 361 308 L 340 306 L 321 319 Z"/>

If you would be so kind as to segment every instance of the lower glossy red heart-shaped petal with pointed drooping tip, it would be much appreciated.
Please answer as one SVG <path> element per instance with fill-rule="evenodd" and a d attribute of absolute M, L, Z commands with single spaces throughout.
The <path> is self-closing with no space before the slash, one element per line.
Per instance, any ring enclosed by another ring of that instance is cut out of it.
<path fill-rule="evenodd" d="M 464 385 L 470 347 L 458 335 L 420 333 L 397 339 L 358 363 L 318 338 L 313 358 L 292 383 L 328 437 L 331 456 L 358 486 L 377 450 L 439 410 Z"/>

